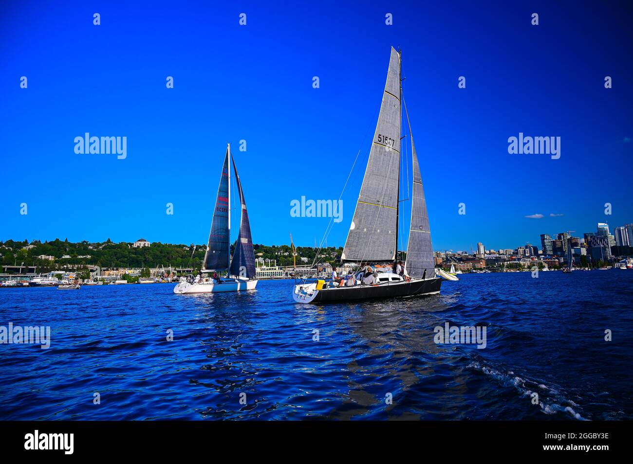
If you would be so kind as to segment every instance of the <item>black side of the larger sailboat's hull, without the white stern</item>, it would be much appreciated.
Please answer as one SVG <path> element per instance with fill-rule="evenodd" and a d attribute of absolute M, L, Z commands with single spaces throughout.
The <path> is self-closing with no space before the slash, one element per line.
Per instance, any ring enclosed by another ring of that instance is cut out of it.
<path fill-rule="evenodd" d="M 399 284 L 358 285 L 346 288 L 320 290 L 312 303 L 350 302 L 375 300 L 376 298 L 397 298 L 399 296 L 426 295 L 438 293 L 442 279 L 427 279 Z"/>

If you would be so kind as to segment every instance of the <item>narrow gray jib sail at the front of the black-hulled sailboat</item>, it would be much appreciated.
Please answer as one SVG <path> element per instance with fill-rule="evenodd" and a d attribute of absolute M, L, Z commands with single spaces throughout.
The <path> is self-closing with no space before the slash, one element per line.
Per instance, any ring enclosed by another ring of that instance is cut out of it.
<path fill-rule="evenodd" d="M 411 198 L 411 226 L 409 229 L 409 245 L 406 250 L 406 262 L 404 269 L 406 274 L 417 278 L 434 278 L 435 262 L 433 259 L 433 246 L 431 245 L 431 233 L 429 227 L 429 213 L 427 212 L 427 200 L 424 197 L 420 164 L 415 152 L 415 143 L 411 135 L 411 122 L 409 113 L 404 103 L 404 113 L 409 126 L 411 137 L 411 154 L 413 157 L 413 197 Z"/>

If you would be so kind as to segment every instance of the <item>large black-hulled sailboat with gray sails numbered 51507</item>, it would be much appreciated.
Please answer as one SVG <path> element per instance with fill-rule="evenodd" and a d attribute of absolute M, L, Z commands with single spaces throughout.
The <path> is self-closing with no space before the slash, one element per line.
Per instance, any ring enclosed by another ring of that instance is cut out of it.
<path fill-rule="evenodd" d="M 341 255 L 342 262 L 357 263 L 359 268 L 365 264 L 391 264 L 398 253 L 401 101 L 401 54 L 392 47 L 365 177 Z M 404 111 L 411 135 L 406 106 Z M 413 137 L 411 152 L 413 196 L 404 277 L 393 272 L 379 272 L 373 284 L 361 283 L 359 279 L 354 279 L 351 286 L 334 283 L 323 286 L 323 282 L 296 284 L 292 291 L 296 302 L 339 302 L 439 293 L 442 279 L 436 276 L 429 217 Z"/>

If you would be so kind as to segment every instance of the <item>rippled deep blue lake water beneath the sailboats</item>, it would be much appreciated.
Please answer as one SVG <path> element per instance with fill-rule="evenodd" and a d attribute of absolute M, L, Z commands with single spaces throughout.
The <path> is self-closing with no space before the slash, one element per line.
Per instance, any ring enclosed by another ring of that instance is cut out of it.
<path fill-rule="evenodd" d="M 438 296 L 339 305 L 294 304 L 292 281 L 4 288 L 0 326 L 51 326 L 51 348 L 0 345 L 0 419 L 630 420 L 632 284 L 468 274 Z M 486 326 L 487 347 L 437 345 L 446 321 Z"/>

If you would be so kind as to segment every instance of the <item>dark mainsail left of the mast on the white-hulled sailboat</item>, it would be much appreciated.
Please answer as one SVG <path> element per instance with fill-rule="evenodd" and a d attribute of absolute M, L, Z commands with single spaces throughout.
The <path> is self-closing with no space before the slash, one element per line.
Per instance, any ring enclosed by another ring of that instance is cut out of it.
<path fill-rule="evenodd" d="M 229 233 L 229 150 L 227 149 L 218 195 L 215 198 L 209 242 L 204 253 L 204 270 L 229 269 Z"/>

